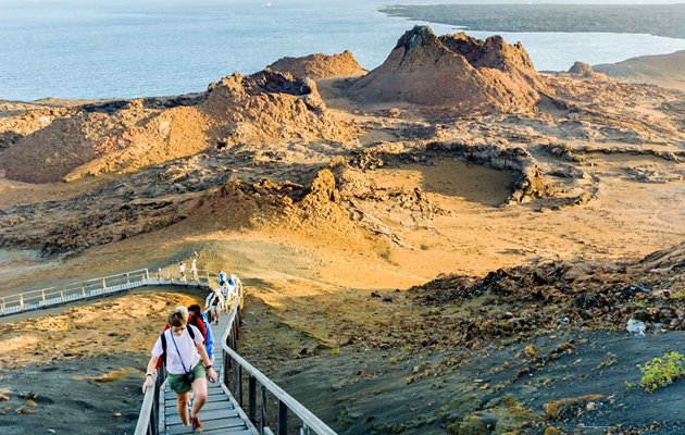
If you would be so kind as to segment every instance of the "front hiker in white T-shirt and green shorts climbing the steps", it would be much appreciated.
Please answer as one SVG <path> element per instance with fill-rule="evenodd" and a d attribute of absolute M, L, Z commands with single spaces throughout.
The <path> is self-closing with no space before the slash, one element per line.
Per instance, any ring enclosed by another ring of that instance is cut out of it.
<path fill-rule="evenodd" d="M 166 321 L 171 328 L 164 331 L 154 343 L 142 393 L 154 384 L 157 362 L 164 355 L 169 385 L 176 393 L 176 409 L 180 422 L 184 426 L 190 423 L 192 430 L 201 431 L 203 425 L 198 414 L 207 401 L 207 378 L 216 382 L 219 375 L 212 368 L 212 361 L 202 344 L 202 334 L 197 327 L 187 324 L 188 309 L 174 308 Z M 190 390 L 195 399 L 191 413 L 188 415 Z"/>

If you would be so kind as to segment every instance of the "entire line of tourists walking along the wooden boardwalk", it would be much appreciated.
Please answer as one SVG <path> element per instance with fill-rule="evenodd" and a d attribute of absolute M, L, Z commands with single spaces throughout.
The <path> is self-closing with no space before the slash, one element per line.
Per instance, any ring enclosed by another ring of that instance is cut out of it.
<path fill-rule="evenodd" d="M 182 278 L 185 278 L 185 263 L 180 263 L 178 271 Z M 190 273 L 197 279 L 195 258 Z M 196 432 L 203 428 L 198 414 L 207 401 L 207 380 L 210 382 L 219 380 L 212 366 L 214 361 L 212 323 L 219 324 L 221 311 L 229 312 L 239 301 L 242 291 L 242 283 L 236 275 L 227 275 L 222 269 L 217 278 L 219 288 L 212 289 L 205 298 L 204 310 L 198 304 L 188 308 L 176 307 L 167 315 L 164 332 L 152 348 L 142 384 L 145 393 L 154 385 L 158 370 L 165 365 L 169 385 L 176 393 L 176 409 L 180 422 L 184 426 L 191 424 Z M 188 412 L 190 393 L 194 398 Z"/>

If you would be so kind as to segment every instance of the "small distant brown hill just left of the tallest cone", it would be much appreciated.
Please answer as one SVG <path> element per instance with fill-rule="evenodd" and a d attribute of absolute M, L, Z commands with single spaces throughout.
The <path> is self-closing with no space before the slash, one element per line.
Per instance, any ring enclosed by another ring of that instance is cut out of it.
<path fill-rule="evenodd" d="M 315 53 L 302 58 L 281 58 L 267 66 L 269 70 L 290 73 L 296 77 L 338 78 L 366 74 L 351 52 L 340 54 Z"/>

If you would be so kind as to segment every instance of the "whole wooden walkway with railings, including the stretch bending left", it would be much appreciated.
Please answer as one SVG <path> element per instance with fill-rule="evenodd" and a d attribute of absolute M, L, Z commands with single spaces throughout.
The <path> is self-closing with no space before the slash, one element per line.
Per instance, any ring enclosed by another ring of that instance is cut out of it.
<path fill-rule="evenodd" d="M 141 269 L 0 298 L 0 316 L 160 285 L 219 287 L 216 278 L 207 271 L 180 277 L 173 266 L 157 272 Z M 219 325 L 213 325 L 214 336 L 221 337 L 215 339 L 214 346 L 214 366 L 220 376 L 217 383 L 208 383 L 208 401 L 199 413 L 204 425 L 202 434 L 335 435 L 316 415 L 236 352 L 244 298 L 244 291 L 238 291 L 231 311 L 222 316 Z M 145 394 L 135 435 L 191 433 L 190 426 L 180 424 L 176 395 L 169 388 L 166 374 L 161 370 L 154 387 Z"/>

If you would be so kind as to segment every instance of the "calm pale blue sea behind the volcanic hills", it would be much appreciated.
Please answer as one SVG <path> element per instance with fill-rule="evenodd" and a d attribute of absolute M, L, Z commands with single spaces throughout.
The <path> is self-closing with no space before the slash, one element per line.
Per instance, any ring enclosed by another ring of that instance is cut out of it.
<path fill-rule="evenodd" d="M 0 0 L 0 99 L 177 95 L 284 55 L 346 49 L 373 69 L 416 24 L 377 12 L 398 2 Z M 438 34 L 456 32 L 432 26 Z M 538 70 L 685 49 L 683 39 L 647 35 L 502 35 L 521 40 Z"/>

